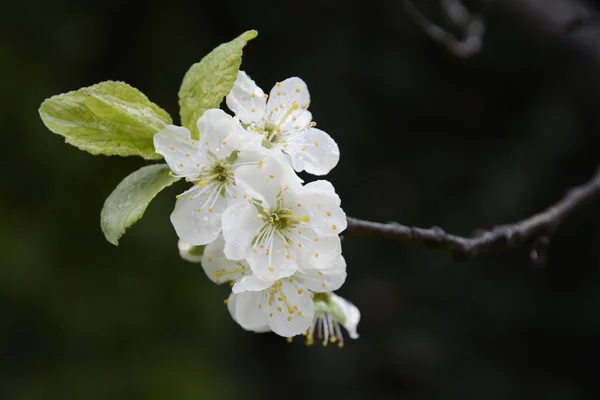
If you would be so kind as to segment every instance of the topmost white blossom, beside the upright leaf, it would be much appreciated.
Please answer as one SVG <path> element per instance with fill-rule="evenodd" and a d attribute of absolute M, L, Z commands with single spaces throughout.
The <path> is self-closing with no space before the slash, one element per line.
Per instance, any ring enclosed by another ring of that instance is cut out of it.
<path fill-rule="evenodd" d="M 261 135 L 274 151 L 287 154 L 296 171 L 325 175 L 338 163 L 337 144 L 315 128 L 308 111 L 310 95 L 302 79 L 277 82 L 267 96 L 244 71 L 239 71 L 226 102 L 249 131 Z"/>

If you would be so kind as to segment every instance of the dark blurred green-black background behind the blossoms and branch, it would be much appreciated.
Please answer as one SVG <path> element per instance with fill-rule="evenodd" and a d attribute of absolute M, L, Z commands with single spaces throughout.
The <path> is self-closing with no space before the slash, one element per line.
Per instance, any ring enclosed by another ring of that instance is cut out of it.
<path fill-rule="evenodd" d="M 3 4 L 0 399 L 594 398 L 600 204 L 561 225 L 543 268 L 531 246 L 456 263 L 347 235 L 338 293 L 362 312 L 360 339 L 290 345 L 243 331 L 228 288 L 179 258 L 169 214 L 185 183 L 110 245 L 102 204 L 147 162 L 79 151 L 37 109 L 122 80 L 179 122 L 187 69 L 257 29 L 242 68 L 265 90 L 307 82 L 340 146 L 328 179 L 348 215 L 468 235 L 593 175 L 599 3 L 465 1 L 486 28 L 470 57 L 432 41 L 402 1 Z M 439 2 L 414 4 L 463 33 Z"/>

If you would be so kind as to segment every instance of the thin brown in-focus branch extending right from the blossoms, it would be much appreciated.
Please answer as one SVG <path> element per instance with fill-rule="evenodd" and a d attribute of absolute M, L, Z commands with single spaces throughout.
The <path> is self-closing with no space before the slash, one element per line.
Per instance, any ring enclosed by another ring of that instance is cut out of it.
<path fill-rule="evenodd" d="M 450 251 L 457 261 L 472 259 L 478 254 L 496 249 L 508 250 L 534 239 L 531 252 L 536 264 L 545 262 L 550 237 L 572 212 L 592 199 L 600 198 L 600 168 L 587 183 L 569 190 L 558 203 L 548 209 L 513 224 L 500 225 L 480 231 L 471 237 L 446 233 L 439 227 L 417 228 L 397 222 L 379 223 L 348 217 L 346 232 L 389 237 L 391 239 L 422 243 L 430 248 Z"/>

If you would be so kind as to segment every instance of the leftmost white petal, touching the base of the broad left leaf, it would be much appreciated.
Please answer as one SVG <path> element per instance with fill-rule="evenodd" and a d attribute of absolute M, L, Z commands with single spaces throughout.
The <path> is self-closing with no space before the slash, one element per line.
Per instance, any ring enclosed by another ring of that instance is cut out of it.
<path fill-rule="evenodd" d="M 197 177 L 200 168 L 207 163 L 196 143 L 187 128 L 175 125 L 167 125 L 154 135 L 154 148 L 165 158 L 171 171 L 190 179 Z"/>

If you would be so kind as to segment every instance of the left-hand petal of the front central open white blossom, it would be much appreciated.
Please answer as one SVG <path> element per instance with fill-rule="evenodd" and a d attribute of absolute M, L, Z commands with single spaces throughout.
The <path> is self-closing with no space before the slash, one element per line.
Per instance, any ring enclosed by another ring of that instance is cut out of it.
<path fill-rule="evenodd" d="M 229 206 L 223 213 L 222 226 L 227 258 L 246 258 L 252 239 L 262 225 L 262 220 L 256 219 L 256 213 L 254 206 L 247 202 Z"/>

